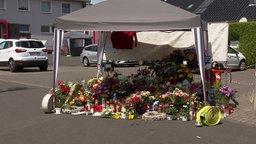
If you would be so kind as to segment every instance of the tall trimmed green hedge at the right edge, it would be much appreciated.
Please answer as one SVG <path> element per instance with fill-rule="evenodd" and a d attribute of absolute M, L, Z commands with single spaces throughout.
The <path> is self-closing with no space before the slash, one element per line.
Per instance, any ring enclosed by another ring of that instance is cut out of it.
<path fill-rule="evenodd" d="M 229 41 L 239 41 L 238 50 L 245 55 L 247 66 L 256 63 L 256 22 L 229 23 Z"/>

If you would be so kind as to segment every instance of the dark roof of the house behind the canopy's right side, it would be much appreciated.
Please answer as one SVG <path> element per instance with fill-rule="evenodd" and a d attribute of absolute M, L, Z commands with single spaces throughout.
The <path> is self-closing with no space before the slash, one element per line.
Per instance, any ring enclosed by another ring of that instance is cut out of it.
<path fill-rule="evenodd" d="M 256 20 L 256 0 L 166 0 L 167 3 L 201 15 L 207 22 Z"/>

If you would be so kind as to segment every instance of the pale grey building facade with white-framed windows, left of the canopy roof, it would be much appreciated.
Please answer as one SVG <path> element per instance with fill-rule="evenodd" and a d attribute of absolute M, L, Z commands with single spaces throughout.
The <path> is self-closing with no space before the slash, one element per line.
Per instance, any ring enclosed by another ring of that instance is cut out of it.
<path fill-rule="evenodd" d="M 56 17 L 88 4 L 90 0 L 0 0 L 1 38 L 49 40 Z"/>

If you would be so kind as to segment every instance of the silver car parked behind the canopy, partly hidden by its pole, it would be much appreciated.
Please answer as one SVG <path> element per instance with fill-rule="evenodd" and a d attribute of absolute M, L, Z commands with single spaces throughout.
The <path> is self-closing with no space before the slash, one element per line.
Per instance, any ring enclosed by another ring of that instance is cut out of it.
<path fill-rule="evenodd" d="M 90 66 L 92 64 L 97 64 L 97 44 L 91 44 L 88 46 L 85 46 L 82 50 L 82 53 L 80 54 L 80 61 L 83 63 L 83 66 Z M 121 66 L 121 65 L 138 65 L 139 62 L 136 60 L 106 60 L 105 54 L 103 55 L 103 63 L 106 62 L 113 63 L 115 66 Z"/>

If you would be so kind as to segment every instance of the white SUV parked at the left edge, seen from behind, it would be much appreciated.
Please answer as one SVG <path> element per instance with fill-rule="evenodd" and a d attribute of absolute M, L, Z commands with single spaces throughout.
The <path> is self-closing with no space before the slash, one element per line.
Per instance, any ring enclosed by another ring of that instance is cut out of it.
<path fill-rule="evenodd" d="M 44 44 L 35 39 L 5 39 L 0 43 L 0 66 L 9 66 L 11 72 L 24 67 L 48 68 L 48 54 Z"/>

